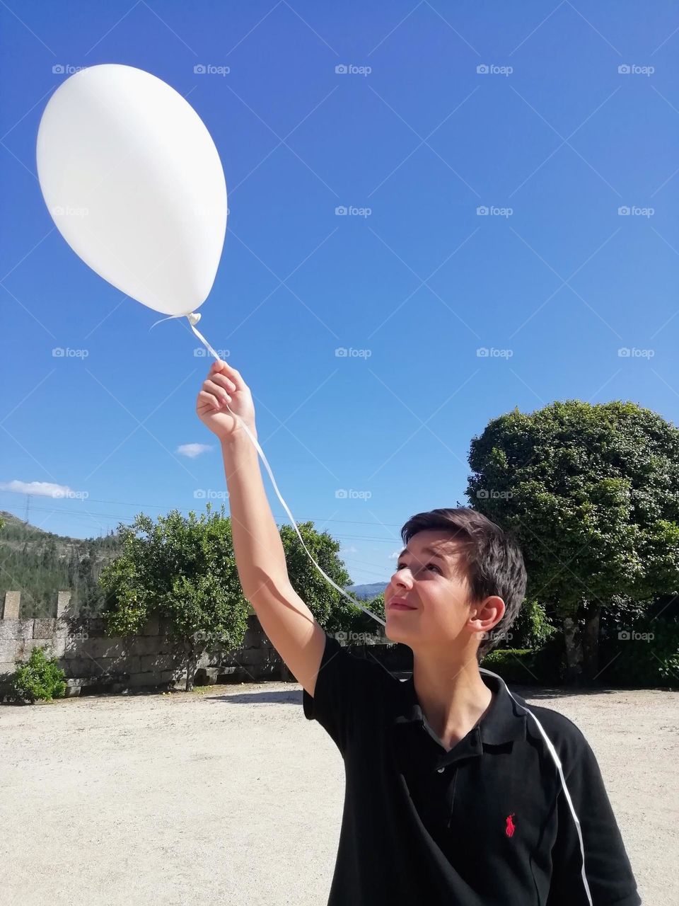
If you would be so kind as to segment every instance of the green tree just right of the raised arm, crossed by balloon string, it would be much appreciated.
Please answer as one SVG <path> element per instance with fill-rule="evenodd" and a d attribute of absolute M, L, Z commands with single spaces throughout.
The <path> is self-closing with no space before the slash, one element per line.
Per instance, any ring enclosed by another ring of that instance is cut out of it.
<path fill-rule="evenodd" d="M 324 573 L 340 588 L 351 583 L 349 573 L 339 557 L 339 541 L 328 532 L 317 532 L 313 522 L 298 523 L 307 550 Z M 292 525 L 282 525 L 281 542 L 292 588 L 307 605 L 325 631 L 346 630 L 360 612 L 325 579 L 311 563 Z"/>

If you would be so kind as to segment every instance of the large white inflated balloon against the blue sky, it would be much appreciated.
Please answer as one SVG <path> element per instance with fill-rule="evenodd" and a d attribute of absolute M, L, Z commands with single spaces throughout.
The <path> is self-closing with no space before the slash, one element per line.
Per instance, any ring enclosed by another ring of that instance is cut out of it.
<path fill-rule="evenodd" d="M 37 168 L 60 233 L 82 260 L 149 308 L 194 312 L 215 282 L 226 183 L 215 142 L 150 72 L 76 72 L 40 120 Z"/>

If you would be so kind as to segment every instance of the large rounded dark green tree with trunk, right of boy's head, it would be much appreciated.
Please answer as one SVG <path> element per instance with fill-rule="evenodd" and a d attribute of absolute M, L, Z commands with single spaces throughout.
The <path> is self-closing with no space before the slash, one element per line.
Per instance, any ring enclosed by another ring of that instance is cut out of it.
<path fill-rule="evenodd" d="M 593 677 L 602 608 L 679 588 L 679 429 L 632 402 L 555 402 L 493 419 L 469 464 L 470 504 L 517 536 L 569 678 Z"/>

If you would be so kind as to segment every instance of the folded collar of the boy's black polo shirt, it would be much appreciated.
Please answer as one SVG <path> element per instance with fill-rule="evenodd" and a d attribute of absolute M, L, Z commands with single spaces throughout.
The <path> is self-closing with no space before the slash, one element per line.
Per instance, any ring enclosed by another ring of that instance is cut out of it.
<path fill-rule="evenodd" d="M 504 682 L 490 671 L 481 672 L 483 683 L 493 692 L 493 701 L 487 714 L 479 721 L 478 729 L 481 733 L 483 745 L 502 746 L 516 740 L 526 738 L 526 712 L 512 700 L 512 696 L 505 688 Z M 397 680 L 401 689 L 398 697 L 397 713 L 392 723 L 424 725 L 424 714 L 417 700 L 415 681 L 411 674 L 405 681 Z M 515 699 L 522 702 L 521 696 L 514 694 Z"/>

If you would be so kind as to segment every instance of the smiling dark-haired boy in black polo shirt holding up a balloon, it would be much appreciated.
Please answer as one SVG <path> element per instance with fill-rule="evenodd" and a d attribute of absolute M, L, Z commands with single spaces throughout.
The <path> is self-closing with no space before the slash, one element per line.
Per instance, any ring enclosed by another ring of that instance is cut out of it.
<path fill-rule="evenodd" d="M 256 437 L 239 371 L 215 362 L 196 412 L 221 440 L 244 595 L 301 683 L 305 717 L 344 760 L 330 906 L 640 906 L 579 728 L 550 708 L 528 713 L 479 668 L 521 607 L 526 573 L 512 538 L 464 508 L 404 525 L 385 591 L 387 637 L 413 651 L 401 682 L 341 648 L 293 591 L 257 451 L 231 414 Z"/>

